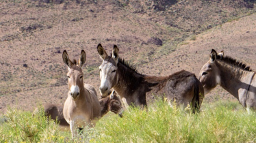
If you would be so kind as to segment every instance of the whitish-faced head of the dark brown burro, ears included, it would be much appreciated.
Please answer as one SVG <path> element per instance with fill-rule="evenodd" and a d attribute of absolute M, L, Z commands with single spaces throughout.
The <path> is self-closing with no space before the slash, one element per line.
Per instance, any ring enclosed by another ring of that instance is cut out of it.
<path fill-rule="evenodd" d="M 112 50 L 112 55 L 108 56 L 107 52 L 103 49 L 101 44 L 97 46 L 99 56 L 102 59 L 102 63 L 99 66 L 101 85 L 99 91 L 103 97 L 106 97 L 110 93 L 110 89 L 117 83 L 117 63 L 118 63 L 118 51 L 116 45 Z"/>

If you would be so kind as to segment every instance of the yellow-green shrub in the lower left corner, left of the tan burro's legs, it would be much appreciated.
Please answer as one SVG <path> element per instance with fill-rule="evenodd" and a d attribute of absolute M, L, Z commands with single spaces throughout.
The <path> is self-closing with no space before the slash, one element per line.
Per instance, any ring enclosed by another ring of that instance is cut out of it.
<path fill-rule="evenodd" d="M 32 116 L 31 112 L 8 109 L 7 118 L 0 126 L 0 142 L 63 142 L 54 121 L 47 121 L 43 108 Z M 58 138 L 57 138 L 58 137 Z"/>

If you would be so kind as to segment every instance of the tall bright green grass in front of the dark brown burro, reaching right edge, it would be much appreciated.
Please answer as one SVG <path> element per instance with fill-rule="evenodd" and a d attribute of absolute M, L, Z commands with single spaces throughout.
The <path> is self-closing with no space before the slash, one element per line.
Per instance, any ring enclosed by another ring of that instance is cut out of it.
<path fill-rule="evenodd" d="M 95 129 L 94 142 L 256 142 L 256 114 L 239 104 L 218 101 L 198 114 L 170 108 L 131 108 L 124 118 L 106 118 Z"/>

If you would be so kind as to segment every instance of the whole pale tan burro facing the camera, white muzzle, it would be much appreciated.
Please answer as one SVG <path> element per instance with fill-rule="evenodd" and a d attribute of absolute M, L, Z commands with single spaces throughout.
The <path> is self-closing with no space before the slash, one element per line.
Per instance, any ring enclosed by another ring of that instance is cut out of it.
<path fill-rule="evenodd" d="M 93 126 L 91 121 L 101 117 L 101 105 L 95 89 L 89 84 L 84 84 L 83 81 L 84 73 L 81 67 L 86 62 L 86 52 L 81 50 L 78 63 L 69 59 L 66 50 L 62 58 L 68 67 L 68 97 L 64 104 L 63 115 L 70 125 L 74 138 L 77 127 L 81 129 L 86 125 Z"/>

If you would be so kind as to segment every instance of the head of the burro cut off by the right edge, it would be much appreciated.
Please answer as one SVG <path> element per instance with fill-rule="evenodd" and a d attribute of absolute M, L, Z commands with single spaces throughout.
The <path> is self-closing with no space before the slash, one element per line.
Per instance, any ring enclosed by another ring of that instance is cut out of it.
<path fill-rule="evenodd" d="M 217 66 L 217 56 L 223 57 L 224 52 L 221 51 L 217 54 L 216 50 L 212 49 L 209 61 L 203 65 L 201 71 L 199 72 L 199 80 L 203 84 L 205 94 L 209 93 L 209 91 L 220 84 L 220 69 L 218 69 Z"/>

